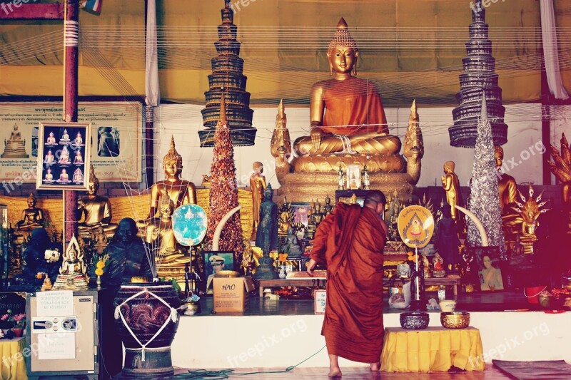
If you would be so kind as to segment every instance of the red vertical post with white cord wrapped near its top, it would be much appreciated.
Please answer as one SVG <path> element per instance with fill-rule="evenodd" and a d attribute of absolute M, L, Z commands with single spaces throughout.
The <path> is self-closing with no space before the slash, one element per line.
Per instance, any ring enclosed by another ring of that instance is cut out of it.
<path fill-rule="evenodd" d="M 79 65 L 79 1 L 66 0 L 64 14 L 64 121 L 77 121 L 77 72 Z M 64 190 L 64 243 L 77 230 L 77 192 Z"/>

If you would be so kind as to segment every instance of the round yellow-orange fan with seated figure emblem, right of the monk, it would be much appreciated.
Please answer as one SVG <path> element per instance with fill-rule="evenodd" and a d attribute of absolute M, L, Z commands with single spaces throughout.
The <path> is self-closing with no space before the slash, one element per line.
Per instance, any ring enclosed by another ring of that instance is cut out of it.
<path fill-rule="evenodd" d="M 422 206 L 405 207 L 398 215 L 398 233 L 408 247 L 425 247 L 434 233 L 430 210 Z"/>

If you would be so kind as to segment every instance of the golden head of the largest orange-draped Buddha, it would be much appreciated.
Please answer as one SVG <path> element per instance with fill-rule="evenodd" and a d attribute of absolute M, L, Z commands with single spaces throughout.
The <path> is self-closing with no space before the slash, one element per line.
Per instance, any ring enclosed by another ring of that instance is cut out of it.
<path fill-rule="evenodd" d="M 329 72 L 348 73 L 353 71 L 357 75 L 357 57 L 359 50 L 357 43 L 348 31 L 345 19 L 341 17 L 337 24 L 335 36 L 330 41 L 327 49 L 327 58 L 329 59 Z"/>

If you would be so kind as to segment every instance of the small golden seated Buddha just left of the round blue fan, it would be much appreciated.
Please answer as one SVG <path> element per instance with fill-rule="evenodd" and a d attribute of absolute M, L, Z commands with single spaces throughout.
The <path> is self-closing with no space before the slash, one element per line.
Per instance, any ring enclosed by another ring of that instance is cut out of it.
<path fill-rule="evenodd" d="M 146 242 L 155 252 L 158 264 L 190 262 L 190 256 L 184 256 L 181 246 L 176 241 L 171 216 L 174 202 L 169 197 L 161 198 L 159 203 L 160 217 L 153 218 L 146 227 Z"/>

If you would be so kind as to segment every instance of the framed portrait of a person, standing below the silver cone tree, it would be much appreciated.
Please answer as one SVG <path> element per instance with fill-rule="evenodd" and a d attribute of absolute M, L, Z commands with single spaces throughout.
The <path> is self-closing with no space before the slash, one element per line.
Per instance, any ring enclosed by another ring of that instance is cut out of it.
<path fill-rule="evenodd" d="M 502 269 L 500 269 L 500 248 L 499 247 L 469 247 L 470 254 L 473 255 L 477 277 L 480 279 L 480 290 L 493 291 L 503 290 Z"/>

